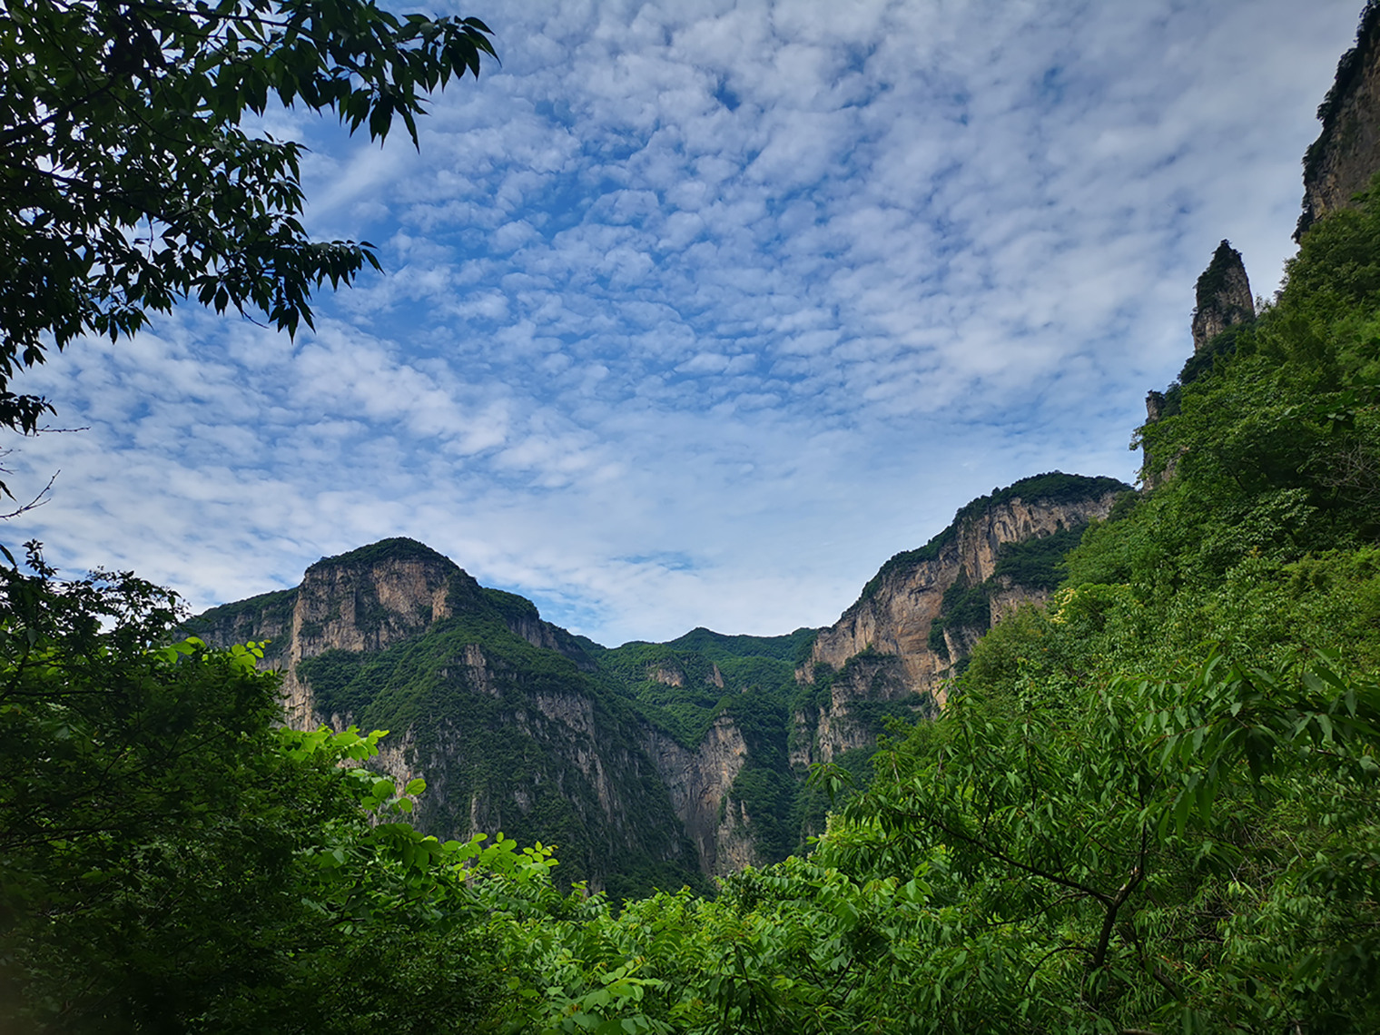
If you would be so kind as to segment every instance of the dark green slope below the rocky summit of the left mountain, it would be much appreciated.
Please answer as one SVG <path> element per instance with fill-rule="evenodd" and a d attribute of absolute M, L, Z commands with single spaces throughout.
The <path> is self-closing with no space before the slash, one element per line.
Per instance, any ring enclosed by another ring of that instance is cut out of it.
<path fill-rule="evenodd" d="M 477 821 L 555 845 L 567 887 L 588 879 L 617 897 L 701 887 L 694 850 L 639 747 L 636 708 L 575 661 L 513 633 L 513 618 L 535 620 L 530 602 L 489 589 L 476 600 L 385 650 L 306 658 L 297 675 L 323 713 L 410 731 L 407 765 L 431 759 L 428 774 L 446 787 L 444 798 L 420 803 L 421 827 Z M 596 751 L 610 769 L 577 765 Z"/>

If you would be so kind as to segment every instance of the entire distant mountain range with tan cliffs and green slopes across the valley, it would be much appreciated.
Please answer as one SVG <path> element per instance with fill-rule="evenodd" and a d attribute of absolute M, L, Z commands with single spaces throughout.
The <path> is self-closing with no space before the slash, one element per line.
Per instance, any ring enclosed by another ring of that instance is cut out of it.
<path fill-rule="evenodd" d="M 818 832 L 811 762 L 862 773 L 891 718 L 933 716 L 991 624 L 1125 486 L 1052 473 L 974 500 L 827 629 L 603 647 L 406 538 L 323 558 L 295 589 L 213 609 L 208 643 L 268 640 L 288 722 L 391 736 L 417 824 L 553 843 L 567 882 L 628 896 L 782 858 Z"/>

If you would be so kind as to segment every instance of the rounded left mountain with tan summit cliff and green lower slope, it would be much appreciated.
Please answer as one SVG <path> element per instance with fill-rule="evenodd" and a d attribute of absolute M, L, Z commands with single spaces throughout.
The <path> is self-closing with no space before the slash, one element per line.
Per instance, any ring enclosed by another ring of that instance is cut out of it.
<path fill-rule="evenodd" d="M 264 665 L 282 671 L 293 724 L 389 729 L 370 765 L 426 778 L 414 816 L 431 834 L 556 843 L 563 872 L 596 890 L 629 860 L 668 886 L 700 869 L 642 723 L 588 678 L 580 643 L 422 544 L 326 558 L 295 589 L 208 611 L 193 631 L 218 646 L 272 639 Z M 701 769 L 708 787 L 708 758 Z"/>

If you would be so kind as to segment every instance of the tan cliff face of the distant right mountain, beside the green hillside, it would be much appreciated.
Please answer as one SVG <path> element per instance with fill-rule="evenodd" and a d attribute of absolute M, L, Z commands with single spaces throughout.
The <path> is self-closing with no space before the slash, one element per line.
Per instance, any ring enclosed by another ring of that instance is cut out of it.
<path fill-rule="evenodd" d="M 827 700 L 793 716 L 791 762 L 828 762 L 842 751 L 871 747 L 875 724 L 864 701 L 912 700 L 920 712 L 943 708 L 956 661 L 994 622 L 1023 603 L 1043 603 L 1045 586 L 998 573 L 1003 544 L 1020 544 L 1105 518 L 1127 486 L 1083 479 L 1082 490 L 1042 495 L 1041 476 L 974 501 L 931 542 L 887 562 L 862 596 L 814 642 L 796 672 L 802 683 L 829 680 Z M 1070 477 L 1070 476 L 1058 476 Z M 945 620 L 945 609 L 951 614 Z M 962 617 L 959 617 L 962 615 Z M 940 631 L 943 635 L 936 635 Z M 918 696 L 918 700 L 914 697 Z"/>

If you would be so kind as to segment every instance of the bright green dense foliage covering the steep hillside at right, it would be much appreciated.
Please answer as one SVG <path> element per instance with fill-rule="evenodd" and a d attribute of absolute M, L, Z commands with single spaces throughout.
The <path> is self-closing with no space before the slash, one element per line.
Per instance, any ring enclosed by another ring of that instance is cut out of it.
<path fill-rule="evenodd" d="M 1319 222 L 1143 431 L 1176 473 L 987 633 L 813 854 L 545 923 L 529 1023 L 1380 1027 L 1377 269 L 1376 207 Z"/>

